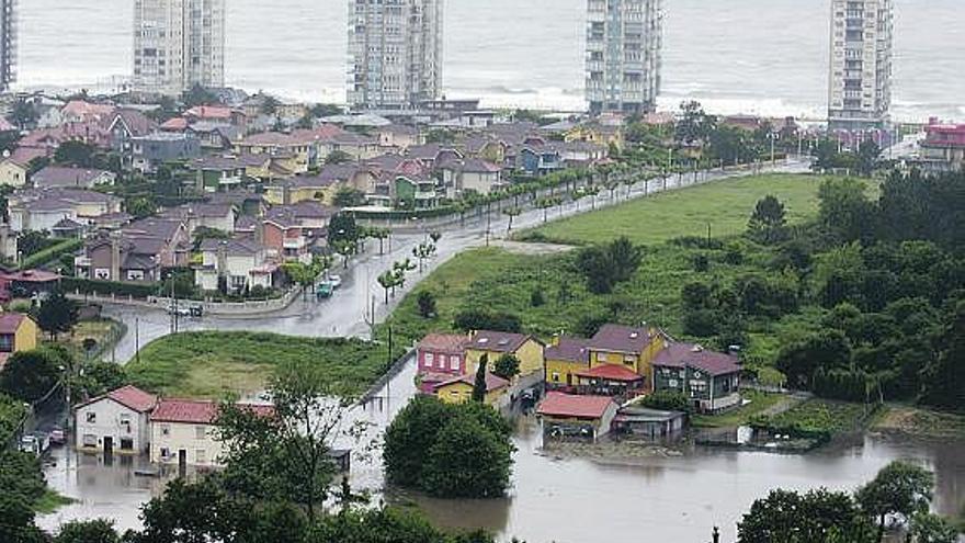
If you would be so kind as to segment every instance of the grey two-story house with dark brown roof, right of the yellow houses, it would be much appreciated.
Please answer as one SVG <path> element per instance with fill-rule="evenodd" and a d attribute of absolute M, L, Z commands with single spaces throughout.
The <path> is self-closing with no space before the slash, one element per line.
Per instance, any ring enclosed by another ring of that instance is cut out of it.
<path fill-rule="evenodd" d="M 670 343 L 654 360 L 655 391 L 678 392 L 696 409 L 715 412 L 740 404 L 737 357 L 693 343 Z"/>

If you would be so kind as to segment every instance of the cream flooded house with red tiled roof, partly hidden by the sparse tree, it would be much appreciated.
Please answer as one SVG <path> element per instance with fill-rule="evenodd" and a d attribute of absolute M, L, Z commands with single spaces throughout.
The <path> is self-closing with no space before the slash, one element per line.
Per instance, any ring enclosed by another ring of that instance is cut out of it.
<path fill-rule="evenodd" d="M 271 415 L 271 406 L 251 405 Z M 215 420 L 218 405 L 209 400 L 162 399 L 151 414 L 150 461 L 156 464 L 218 465 L 223 443 Z"/>

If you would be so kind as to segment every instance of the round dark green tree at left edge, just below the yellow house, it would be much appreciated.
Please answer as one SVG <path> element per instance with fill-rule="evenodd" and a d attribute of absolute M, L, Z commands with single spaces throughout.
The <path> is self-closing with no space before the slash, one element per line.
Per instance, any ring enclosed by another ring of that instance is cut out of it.
<path fill-rule="evenodd" d="M 67 367 L 66 353 L 55 348 L 15 352 L 0 370 L 0 392 L 27 403 L 43 398 Z"/>

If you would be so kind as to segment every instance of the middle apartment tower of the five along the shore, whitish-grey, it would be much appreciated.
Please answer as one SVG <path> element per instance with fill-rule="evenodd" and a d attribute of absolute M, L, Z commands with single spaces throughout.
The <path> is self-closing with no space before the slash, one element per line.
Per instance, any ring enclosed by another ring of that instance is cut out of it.
<path fill-rule="evenodd" d="M 408 109 L 442 87 L 443 0 L 349 0 L 349 103 Z"/>

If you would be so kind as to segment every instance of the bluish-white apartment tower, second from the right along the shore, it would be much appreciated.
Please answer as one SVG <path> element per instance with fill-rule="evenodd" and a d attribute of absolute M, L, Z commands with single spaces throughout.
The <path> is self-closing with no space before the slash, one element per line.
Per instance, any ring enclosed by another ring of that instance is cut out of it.
<path fill-rule="evenodd" d="M 661 0 L 588 0 L 587 5 L 590 112 L 654 111 L 663 49 Z"/>

